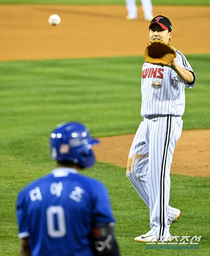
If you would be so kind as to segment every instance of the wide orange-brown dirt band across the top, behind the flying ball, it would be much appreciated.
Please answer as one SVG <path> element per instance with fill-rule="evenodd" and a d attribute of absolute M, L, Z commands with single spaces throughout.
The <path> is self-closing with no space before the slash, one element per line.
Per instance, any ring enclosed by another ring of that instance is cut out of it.
<path fill-rule="evenodd" d="M 171 44 L 184 54 L 210 53 L 210 6 L 154 6 L 173 25 Z M 124 5 L 0 5 L 0 60 L 143 55 L 149 22 L 125 20 Z M 51 26 L 51 14 L 61 24 Z"/>

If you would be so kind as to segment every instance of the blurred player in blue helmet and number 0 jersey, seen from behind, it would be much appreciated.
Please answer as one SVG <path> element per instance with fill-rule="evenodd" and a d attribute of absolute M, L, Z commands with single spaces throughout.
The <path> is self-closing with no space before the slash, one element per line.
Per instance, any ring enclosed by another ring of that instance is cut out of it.
<path fill-rule="evenodd" d="M 50 134 L 57 168 L 18 195 L 21 256 L 118 256 L 114 218 L 101 182 L 79 169 L 95 163 L 99 141 L 79 123 L 58 125 Z"/>

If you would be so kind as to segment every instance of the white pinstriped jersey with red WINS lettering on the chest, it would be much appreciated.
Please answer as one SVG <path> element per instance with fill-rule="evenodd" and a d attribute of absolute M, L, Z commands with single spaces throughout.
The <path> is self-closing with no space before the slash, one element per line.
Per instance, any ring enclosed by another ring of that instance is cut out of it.
<path fill-rule="evenodd" d="M 176 115 L 182 116 L 185 107 L 184 86 L 193 88 L 195 86 L 195 74 L 184 55 L 176 50 L 176 63 L 193 73 L 192 83 L 184 83 L 173 69 L 161 67 L 151 63 L 144 63 L 142 68 L 142 107 L 141 115 Z M 151 85 L 158 80 L 162 87 L 153 88 Z"/>

